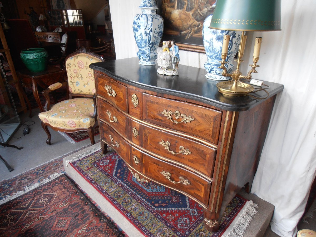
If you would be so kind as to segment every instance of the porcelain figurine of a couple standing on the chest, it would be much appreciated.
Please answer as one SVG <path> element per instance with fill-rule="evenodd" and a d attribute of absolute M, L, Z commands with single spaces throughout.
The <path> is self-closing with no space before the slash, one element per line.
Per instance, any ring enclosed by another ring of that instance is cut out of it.
<path fill-rule="evenodd" d="M 170 45 L 171 47 L 169 48 Z M 179 47 L 174 40 L 163 41 L 162 49 L 158 52 L 157 64 L 160 68 L 158 68 L 157 72 L 161 75 L 178 76 L 179 62 Z"/>

